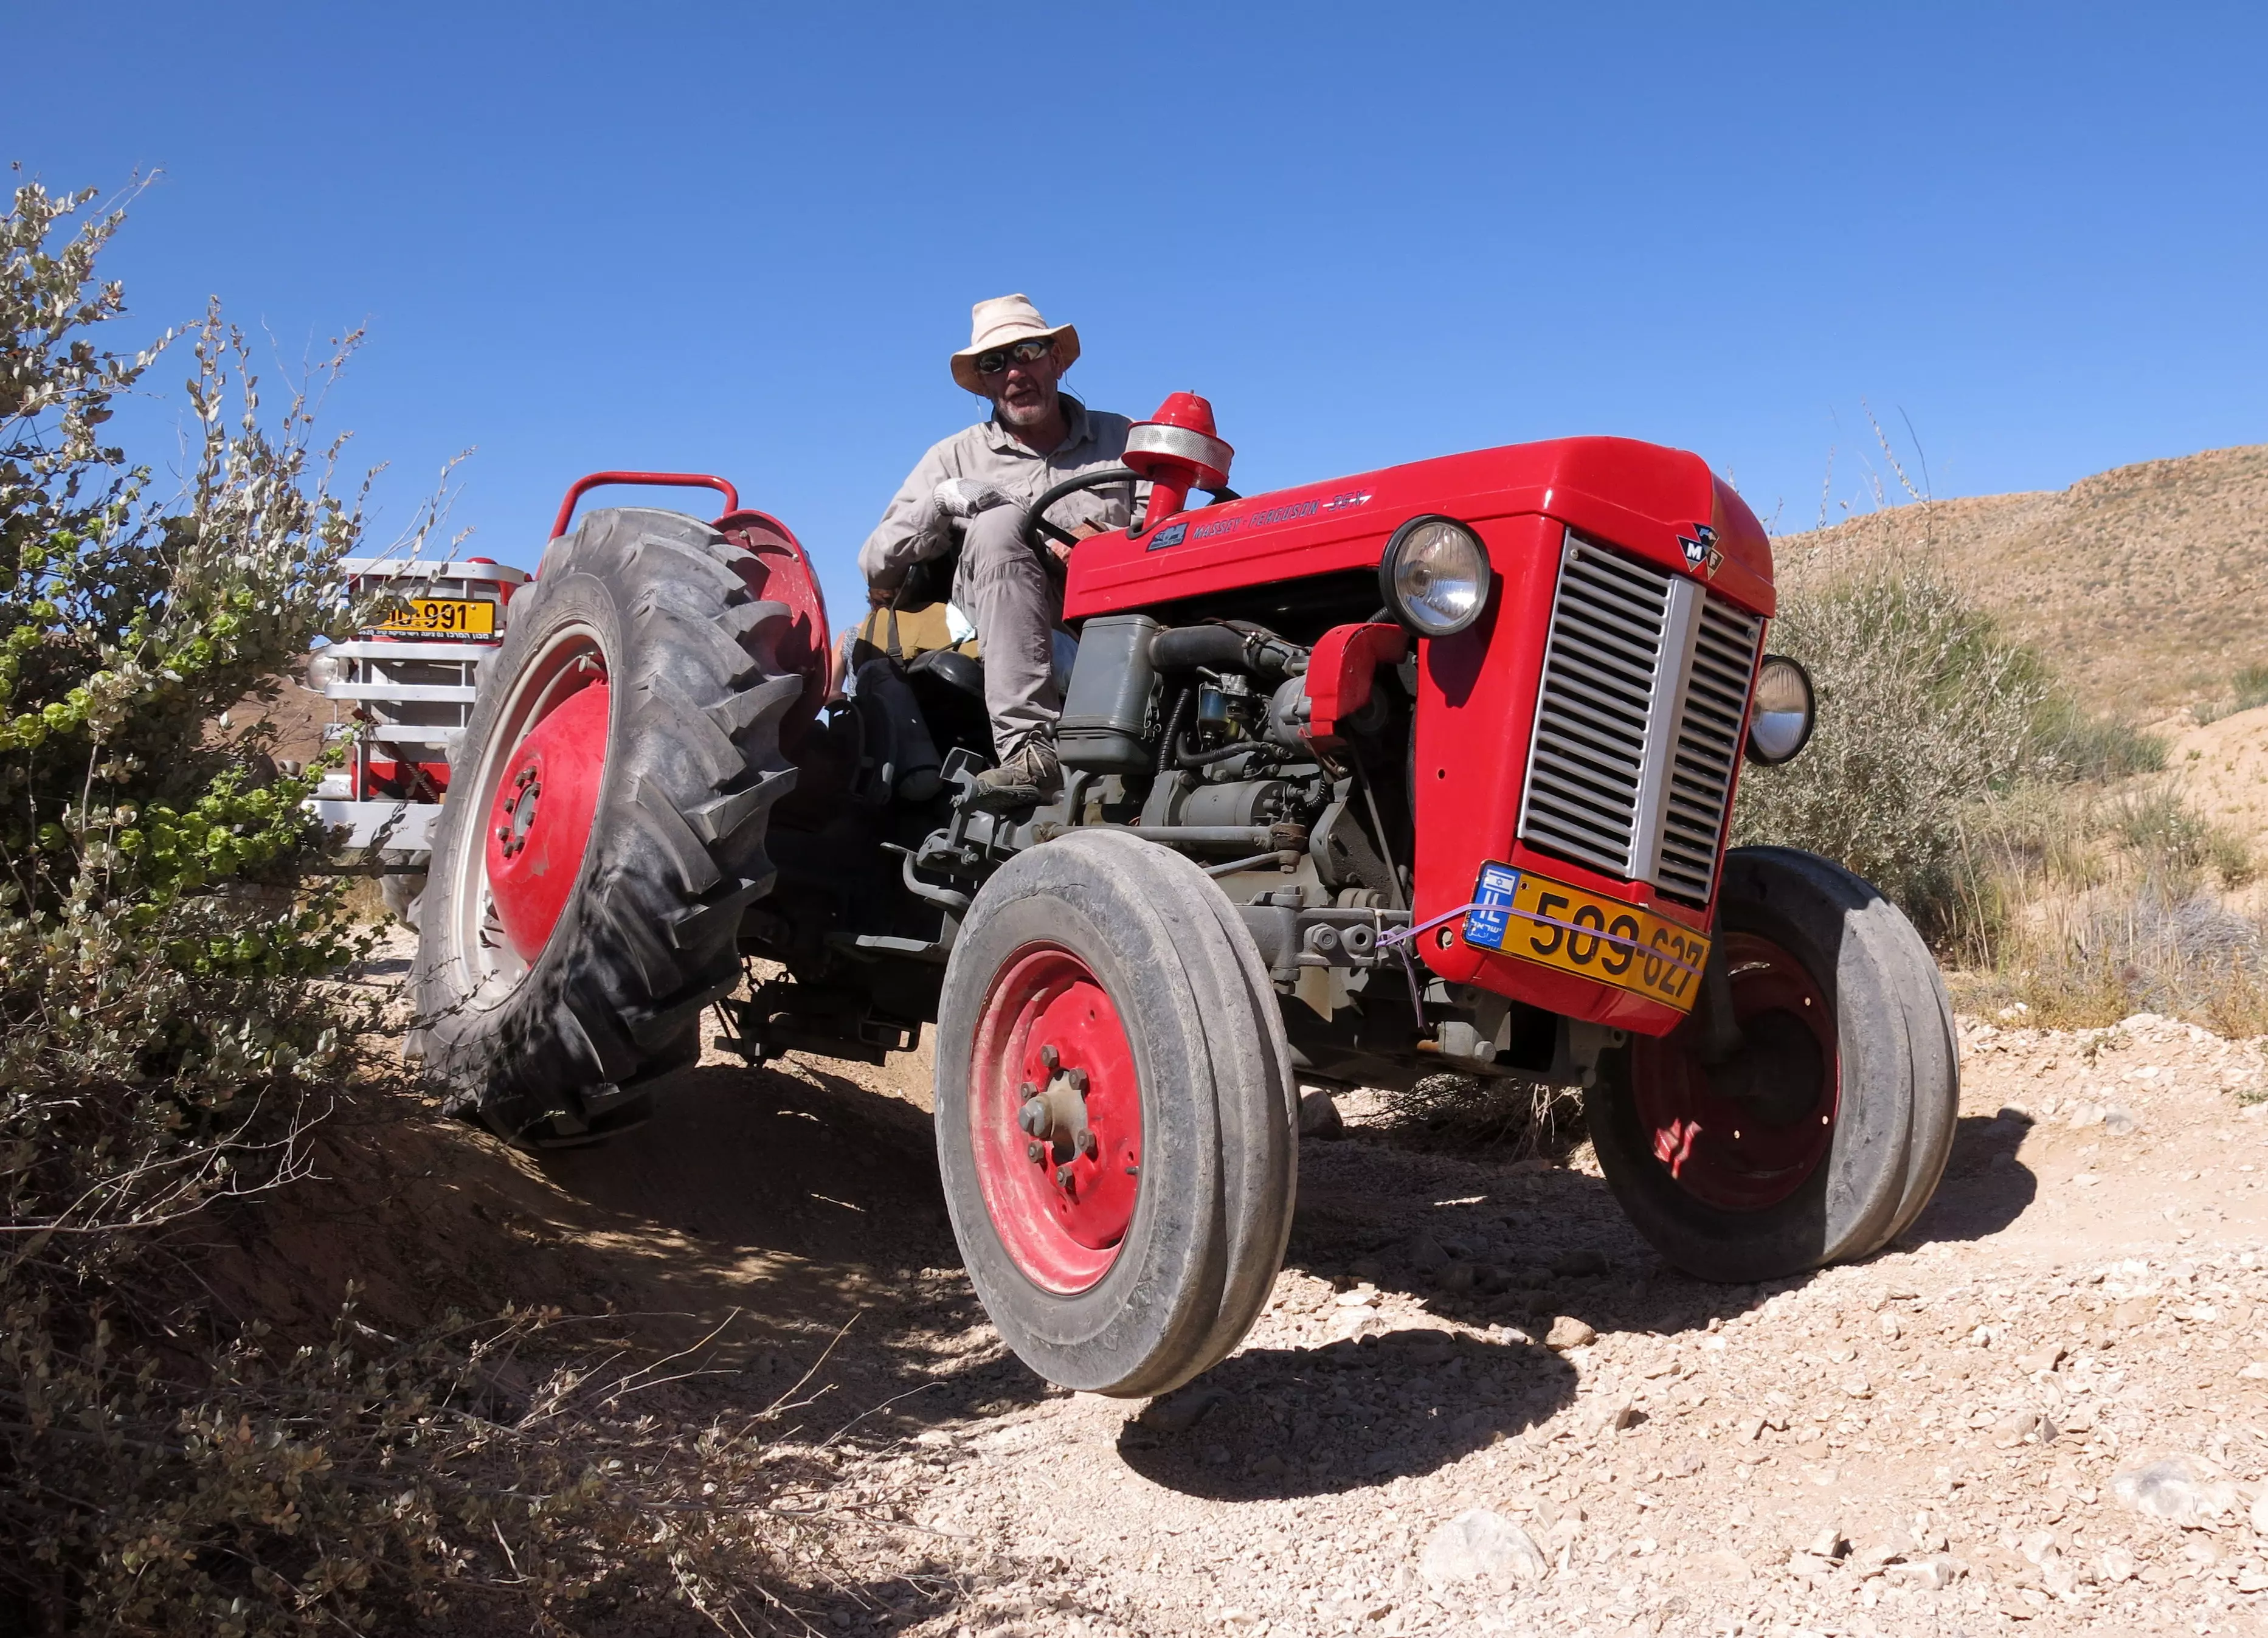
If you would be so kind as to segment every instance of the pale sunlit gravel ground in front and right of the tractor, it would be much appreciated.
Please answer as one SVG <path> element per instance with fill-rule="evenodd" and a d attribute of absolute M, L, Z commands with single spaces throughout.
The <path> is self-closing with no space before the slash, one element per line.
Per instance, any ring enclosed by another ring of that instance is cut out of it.
<path fill-rule="evenodd" d="M 837 1627 L 2268 1633 L 2268 1044 L 2014 1023 L 1962 1025 L 1916 1227 L 1767 1286 L 1669 1270 L 1583 1157 L 1343 1100 L 1234 1359 L 857 1450 L 964 1593 Z"/>

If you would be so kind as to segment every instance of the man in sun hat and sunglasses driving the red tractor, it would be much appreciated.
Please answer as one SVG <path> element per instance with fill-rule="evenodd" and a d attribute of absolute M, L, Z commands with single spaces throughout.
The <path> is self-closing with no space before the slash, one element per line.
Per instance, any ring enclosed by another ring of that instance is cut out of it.
<path fill-rule="evenodd" d="M 1064 619 L 1059 565 L 1070 549 L 1050 547 L 1057 565 L 1050 574 L 1025 547 L 1021 526 L 1025 508 L 1055 483 L 1120 467 L 1132 427 L 1125 415 L 1091 411 L 1059 390 L 1077 356 L 1080 331 L 1050 329 L 1030 297 L 978 302 L 968 345 L 953 354 L 953 379 L 991 399 L 993 413 L 930 445 L 857 554 L 866 601 L 894 615 L 900 603 L 928 603 L 932 590 L 943 590 L 921 585 L 909 594 L 909 576 L 916 565 L 950 558 L 955 535 L 964 535 L 950 601 L 975 624 L 984 651 L 984 708 L 998 753 L 998 767 L 978 774 L 980 808 L 1030 805 L 1061 787 L 1055 633 Z M 1077 515 L 1064 517 L 1066 533 L 1125 529 L 1134 490 L 1114 483 L 1070 497 L 1064 510 Z M 894 619 L 887 628 L 894 631 Z"/>

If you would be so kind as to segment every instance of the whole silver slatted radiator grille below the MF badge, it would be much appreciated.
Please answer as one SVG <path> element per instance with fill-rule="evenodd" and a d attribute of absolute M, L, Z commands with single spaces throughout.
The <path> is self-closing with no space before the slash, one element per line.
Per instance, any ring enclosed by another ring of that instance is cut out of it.
<path fill-rule="evenodd" d="M 1706 903 L 1762 622 L 1567 535 L 1520 839 Z"/>

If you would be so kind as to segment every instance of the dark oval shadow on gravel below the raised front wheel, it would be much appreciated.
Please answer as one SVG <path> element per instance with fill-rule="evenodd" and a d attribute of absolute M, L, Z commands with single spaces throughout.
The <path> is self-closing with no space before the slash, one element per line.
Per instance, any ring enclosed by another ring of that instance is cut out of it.
<path fill-rule="evenodd" d="M 1327 1495 L 1458 1461 L 1574 1402 L 1535 1343 L 1399 1329 L 1329 1348 L 1247 1348 L 1118 1434 L 1152 1484 L 1213 1500 Z"/>

